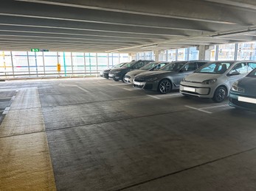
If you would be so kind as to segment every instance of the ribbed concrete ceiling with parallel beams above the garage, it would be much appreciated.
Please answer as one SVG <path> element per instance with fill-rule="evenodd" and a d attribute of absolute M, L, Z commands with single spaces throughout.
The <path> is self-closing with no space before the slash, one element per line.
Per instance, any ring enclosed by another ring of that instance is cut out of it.
<path fill-rule="evenodd" d="M 134 53 L 256 40 L 255 0 L 1 1 L 0 49 Z"/>

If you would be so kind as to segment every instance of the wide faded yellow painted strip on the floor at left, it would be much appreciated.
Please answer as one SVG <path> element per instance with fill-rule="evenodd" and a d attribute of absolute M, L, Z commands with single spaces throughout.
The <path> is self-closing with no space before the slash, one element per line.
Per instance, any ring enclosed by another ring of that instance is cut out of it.
<path fill-rule="evenodd" d="M 44 130 L 38 90 L 20 90 L 0 126 L 0 190 L 56 190 Z"/>

